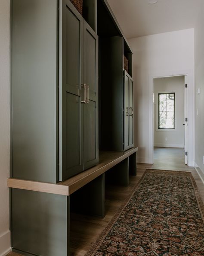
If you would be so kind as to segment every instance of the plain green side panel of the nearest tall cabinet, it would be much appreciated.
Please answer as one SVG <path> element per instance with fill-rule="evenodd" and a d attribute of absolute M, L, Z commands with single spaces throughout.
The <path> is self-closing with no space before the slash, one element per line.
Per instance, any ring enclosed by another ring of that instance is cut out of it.
<path fill-rule="evenodd" d="M 57 0 L 12 0 L 12 176 L 56 183 Z"/>

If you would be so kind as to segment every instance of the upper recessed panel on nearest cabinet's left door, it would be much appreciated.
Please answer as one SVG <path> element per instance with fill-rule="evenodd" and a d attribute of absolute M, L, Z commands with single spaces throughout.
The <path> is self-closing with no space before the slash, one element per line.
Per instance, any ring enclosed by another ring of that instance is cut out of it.
<path fill-rule="evenodd" d="M 80 85 L 80 20 L 68 8 L 66 9 L 66 83 L 69 86 Z"/>

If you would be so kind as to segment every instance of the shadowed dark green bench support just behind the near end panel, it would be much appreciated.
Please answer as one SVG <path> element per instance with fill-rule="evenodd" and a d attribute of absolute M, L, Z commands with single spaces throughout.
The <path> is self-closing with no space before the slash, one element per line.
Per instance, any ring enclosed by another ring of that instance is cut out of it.
<path fill-rule="evenodd" d="M 70 195 L 72 212 L 104 218 L 105 174 Z"/>

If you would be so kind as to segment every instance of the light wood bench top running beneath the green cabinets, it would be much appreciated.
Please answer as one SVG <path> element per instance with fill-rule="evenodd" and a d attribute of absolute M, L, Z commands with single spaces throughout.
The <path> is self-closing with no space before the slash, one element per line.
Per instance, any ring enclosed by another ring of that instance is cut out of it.
<path fill-rule="evenodd" d="M 9 188 L 15 189 L 46 192 L 57 195 L 71 195 L 73 192 L 77 191 L 93 179 L 96 179 L 137 150 L 138 148 L 135 147 L 125 152 L 99 151 L 99 164 L 57 184 L 9 178 L 7 185 Z"/>

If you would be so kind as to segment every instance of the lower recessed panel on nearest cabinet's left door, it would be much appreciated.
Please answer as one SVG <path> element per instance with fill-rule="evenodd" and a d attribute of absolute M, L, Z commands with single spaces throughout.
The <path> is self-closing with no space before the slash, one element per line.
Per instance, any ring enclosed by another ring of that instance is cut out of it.
<path fill-rule="evenodd" d="M 81 164 L 80 158 L 80 97 L 66 94 L 66 171 L 68 176 L 74 175 Z"/>

